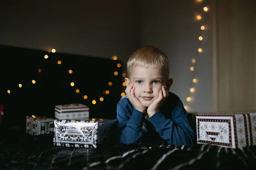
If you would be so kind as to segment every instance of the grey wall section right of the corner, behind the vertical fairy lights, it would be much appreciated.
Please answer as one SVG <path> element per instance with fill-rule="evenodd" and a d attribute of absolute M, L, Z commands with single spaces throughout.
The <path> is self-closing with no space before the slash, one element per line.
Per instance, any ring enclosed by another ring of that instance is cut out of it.
<path fill-rule="evenodd" d="M 189 112 L 211 111 L 209 30 L 201 32 L 201 24 L 209 24 L 209 14 L 203 12 L 209 0 L 141 0 L 141 43 L 156 45 L 170 59 L 170 77 L 174 79 L 170 89 L 177 94 Z M 209 6 L 208 6 L 209 7 Z M 202 14 L 201 22 L 195 14 Z M 202 35 L 200 42 L 198 37 Z M 198 56 L 198 48 L 203 52 Z M 197 57 L 194 73 L 191 59 Z M 192 83 L 193 74 L 198 79 Z M 189 89 L 195 87 L 194 94 Z M 191 96 L 192 101 L 186 102 Z"/>

